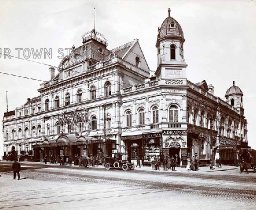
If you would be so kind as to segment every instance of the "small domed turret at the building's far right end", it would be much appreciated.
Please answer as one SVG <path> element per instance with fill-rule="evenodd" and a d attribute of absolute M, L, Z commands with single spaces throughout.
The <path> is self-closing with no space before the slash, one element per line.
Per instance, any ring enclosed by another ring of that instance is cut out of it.
<path fill-rule="evenodd" d="M 233 85 L 227 90 L 225 97 L 227 103 L 234 108 L 239 109 L 243 107 L 243 92 L 235 85 L 235 81 L 233 81 Z"/>

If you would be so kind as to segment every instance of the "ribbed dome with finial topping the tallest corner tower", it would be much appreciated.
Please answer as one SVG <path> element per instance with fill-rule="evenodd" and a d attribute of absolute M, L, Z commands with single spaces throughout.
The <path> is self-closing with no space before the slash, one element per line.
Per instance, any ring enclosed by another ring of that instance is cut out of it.
<path fill-rule="evenodd" d="M 156 47 L 158 47 L 160 42 L 165 39 L 177 39 L 182 41 L 182 43 L 185 41 L 180 24 L 170 16 L 170 12 L 171 10 L 169 8 L 168 17 L 165 18 L 161 27 L 158 28 Z"/>

